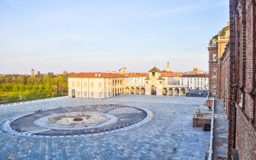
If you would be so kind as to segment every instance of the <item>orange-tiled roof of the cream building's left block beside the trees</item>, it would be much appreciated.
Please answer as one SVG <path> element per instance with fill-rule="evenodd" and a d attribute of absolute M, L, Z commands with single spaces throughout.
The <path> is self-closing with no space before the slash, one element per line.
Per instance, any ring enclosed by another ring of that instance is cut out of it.
<path fill-rule="evenodd" d="M 83 78 L 118 78 L 126 77 L 125 74 L 115 73 L 102 73 L 102 72 L 81 72 L 78 74 L 72 74 L 68 77 L 83 77 Z"/>

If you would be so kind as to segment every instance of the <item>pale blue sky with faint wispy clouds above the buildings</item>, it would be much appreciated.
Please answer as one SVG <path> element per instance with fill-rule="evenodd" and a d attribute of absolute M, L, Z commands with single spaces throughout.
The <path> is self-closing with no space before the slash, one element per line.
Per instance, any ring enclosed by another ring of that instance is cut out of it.
<path fill-rule="evenodd" d="M 228 0 L 0 0 L 0 74 L 208 70 Z"/>

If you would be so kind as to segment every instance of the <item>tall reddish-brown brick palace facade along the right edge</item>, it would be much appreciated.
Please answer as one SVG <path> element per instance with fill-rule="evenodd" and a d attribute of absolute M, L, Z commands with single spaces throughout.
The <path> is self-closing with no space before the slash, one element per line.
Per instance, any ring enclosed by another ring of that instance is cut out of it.
<path fill-rule="evenodd" d="M 209 81 L 216 84 L 210 91 L 225 104 L 228 159 L 256 159 L 256 1 L 230 0 L 229 8 L 230 36 L 225 50 L 213 61 L 218 40 L 212 39 L 208 47 L 209 68 L 215 66 L 217 72 L 210 72 Z"/>

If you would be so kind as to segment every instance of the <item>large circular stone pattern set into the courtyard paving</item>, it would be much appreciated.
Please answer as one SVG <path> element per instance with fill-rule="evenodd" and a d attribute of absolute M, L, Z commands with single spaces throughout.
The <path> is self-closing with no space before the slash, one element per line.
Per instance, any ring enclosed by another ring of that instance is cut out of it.
<path fill-rule="evenodd" d="M 77 136 L 143 124 L 148 115 L 152 115 L 150 111 L 132 106 L 72 106 L 16 116 L 7 120 L 1 128 L 4 132 L 20 136 Z"/>

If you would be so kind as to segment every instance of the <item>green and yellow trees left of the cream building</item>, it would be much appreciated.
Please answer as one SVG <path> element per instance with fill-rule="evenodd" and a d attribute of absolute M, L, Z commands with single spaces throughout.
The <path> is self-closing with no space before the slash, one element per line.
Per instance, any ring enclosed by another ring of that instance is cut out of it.
<path fill-rule="evenodd" d="M 68 74 L 0 77 L 0 102 L 20 102 L 67 95 Z"/>

